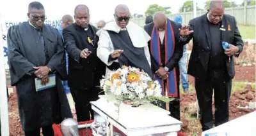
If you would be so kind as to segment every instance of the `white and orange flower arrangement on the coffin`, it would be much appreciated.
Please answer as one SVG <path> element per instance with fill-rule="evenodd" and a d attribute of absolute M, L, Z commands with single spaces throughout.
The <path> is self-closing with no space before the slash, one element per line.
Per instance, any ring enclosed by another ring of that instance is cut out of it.
<path fill-rule="evenodd" d="M 152 80 L 146 72 L 135 67 L 123 66 L 109 72 L 107 78 L 100 80 L 100 87 L 107 95 L 123 102 L 129 101 L 131 104 L 171 100 L 161 95 L 162 88 L 158 81 Z"/>

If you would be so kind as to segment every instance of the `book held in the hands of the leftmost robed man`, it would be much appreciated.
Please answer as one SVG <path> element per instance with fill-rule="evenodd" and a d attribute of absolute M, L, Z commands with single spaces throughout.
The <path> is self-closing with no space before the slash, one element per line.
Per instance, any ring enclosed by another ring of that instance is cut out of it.
<path fill-rule="evenodd" d="M 35 78 L 36 92 L 39 92 L 39 91 L 42 91 L 42 90 L 46 90 L 46 89 L 52 88 L 54 86 L 56 86 L 55 74 L 50 74 L 49 75 L 49 83 L 47 83 L 44 86 L 41 84 L 41 79 Z"/>

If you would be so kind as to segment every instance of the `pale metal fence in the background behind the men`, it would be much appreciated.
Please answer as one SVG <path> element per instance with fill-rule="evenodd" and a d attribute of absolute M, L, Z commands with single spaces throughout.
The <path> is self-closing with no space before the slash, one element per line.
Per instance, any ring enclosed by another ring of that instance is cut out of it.
<path fill-rule="evenodd" d="M 255 8 L 256 6 L 242 6 L 236 8 L 225 8 L 225 13 L 228 15 L 232 15 L 236 17 L 237 24 L 241 25 L 255 25 Z M 204 15 L 206 13 L 205 10 L 197 11 L 196 16 Z M 168 18 L 172 19 L 175 15 L 181 15 L 183 18 L 183 24 L 188 24 L 189 20 L 193 18 L 193 11 L 177 13 L 168 16 Z M 145 18 L 132 18 L 132 22 L 143 27 L 145 25 Z"/>

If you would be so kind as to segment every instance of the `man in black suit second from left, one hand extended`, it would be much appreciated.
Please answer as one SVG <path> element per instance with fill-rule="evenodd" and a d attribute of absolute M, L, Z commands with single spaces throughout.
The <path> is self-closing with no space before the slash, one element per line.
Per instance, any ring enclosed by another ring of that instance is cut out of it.
<path fill-rule="evenodd" d="M 93 119 L 90 101 L 98 99 L 99 80 L 105 74 L 106 66 L 96 55 L 97 28 L 89 24 L 88 7 L 76 6 L 74 18 L 76 23 L 63 29 L 68 53 L 68 86 L 76 103 L 77 121 L 87 121 Z"/>

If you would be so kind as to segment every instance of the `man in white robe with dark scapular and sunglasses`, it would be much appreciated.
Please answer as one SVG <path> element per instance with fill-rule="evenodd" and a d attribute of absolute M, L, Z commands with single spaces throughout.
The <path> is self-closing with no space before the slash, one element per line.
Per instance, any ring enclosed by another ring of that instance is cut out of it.
<path fill-rule="evenodd" d="M 115 22 L 109 22 L 97 32 L 97 56 L 108 65 L 107 72 L 127 65 L 143 69 L 153 77 L 147 46 L 150 36 L 143 28 L 129 22 L 130 12 L 126 5 L 116 6 L 114 17 Z"/>

